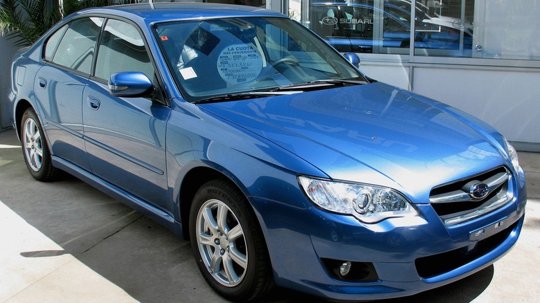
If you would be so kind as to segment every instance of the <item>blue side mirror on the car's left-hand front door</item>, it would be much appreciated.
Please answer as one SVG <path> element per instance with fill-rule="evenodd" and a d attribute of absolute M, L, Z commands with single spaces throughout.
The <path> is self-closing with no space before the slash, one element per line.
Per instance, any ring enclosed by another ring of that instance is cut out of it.
<path fill-rule="evenodd" d="M 154 91 L 154 84 L 144 73 L 114 73 L 109 79 L 109 93 L 115 97 L 144 97 Z"/>

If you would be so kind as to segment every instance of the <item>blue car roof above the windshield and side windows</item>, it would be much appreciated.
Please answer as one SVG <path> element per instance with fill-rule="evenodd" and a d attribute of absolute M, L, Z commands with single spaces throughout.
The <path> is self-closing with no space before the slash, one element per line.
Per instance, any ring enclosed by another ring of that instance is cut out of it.
<path fill-rule="evenodd" d="M 159 21 L 213 19 L 229 17 L 286 17 L 279 12 L 253 6 L 233 6 L 221 3 L 138 3 L 104 8 L 89 8 L 78 15 L 106 14 L 152 24 Z M 137 20 L 138 19 L 138 20 Z"/>

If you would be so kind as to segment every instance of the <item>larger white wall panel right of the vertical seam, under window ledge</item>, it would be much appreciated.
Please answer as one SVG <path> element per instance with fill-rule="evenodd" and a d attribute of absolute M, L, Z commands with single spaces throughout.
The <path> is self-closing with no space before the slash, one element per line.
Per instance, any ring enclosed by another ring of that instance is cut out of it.
<path fill-rule="evenodd" d="M 415 68 L 414 91 L 471 113 L 510 141 L 540 143 L 540 73 Z"/>

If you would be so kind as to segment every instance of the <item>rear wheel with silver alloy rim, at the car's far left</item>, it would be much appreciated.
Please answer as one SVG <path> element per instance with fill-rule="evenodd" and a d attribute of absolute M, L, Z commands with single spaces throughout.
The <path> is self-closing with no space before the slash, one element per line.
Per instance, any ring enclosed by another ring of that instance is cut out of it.
<path fill-rule="evenodd" d="M 21 145 L 28 172 L 39 181 L 51 181 L 57 176 L 48 150 L 42 125 L 33 109 L 26 109 L 21 121 Z"/>

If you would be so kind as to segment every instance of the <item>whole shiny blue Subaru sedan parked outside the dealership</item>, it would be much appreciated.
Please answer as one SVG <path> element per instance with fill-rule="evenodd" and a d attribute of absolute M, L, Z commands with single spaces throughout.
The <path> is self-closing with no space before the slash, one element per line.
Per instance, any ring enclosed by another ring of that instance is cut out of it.
<path fill-rule="evenodd" d="M 261 8 L 83 10 L 16 55 L 12 118 L 34 178 L 69 172 L 189 239 L 228 300 L 401 297 L 503 257 L 515 149 L 357 59 Z"/>

